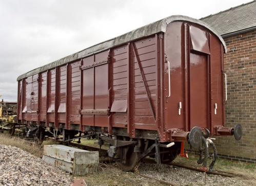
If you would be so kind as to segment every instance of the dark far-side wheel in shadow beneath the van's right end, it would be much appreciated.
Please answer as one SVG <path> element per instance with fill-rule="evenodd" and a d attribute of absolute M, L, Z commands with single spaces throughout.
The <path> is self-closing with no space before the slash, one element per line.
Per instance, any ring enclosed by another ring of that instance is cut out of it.
<path fill-rule="evenodd" d="M 181 153 L 181 142 L 175 142 L 175 144 L 169 148 L 161 148 L 160 153 L 161 151 L 168 151 L 164 154 L 161 154 L 161 162 L 168 164 Z"/>

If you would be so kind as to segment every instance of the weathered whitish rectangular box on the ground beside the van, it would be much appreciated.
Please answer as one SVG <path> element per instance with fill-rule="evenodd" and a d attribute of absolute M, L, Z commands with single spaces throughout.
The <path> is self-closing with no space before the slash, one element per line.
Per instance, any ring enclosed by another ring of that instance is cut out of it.
<path fill-rule="evenodd" d="M 45 145 L 43 160 L 74 176 L 97 172 L 99 152 L 64 145 Z"/>

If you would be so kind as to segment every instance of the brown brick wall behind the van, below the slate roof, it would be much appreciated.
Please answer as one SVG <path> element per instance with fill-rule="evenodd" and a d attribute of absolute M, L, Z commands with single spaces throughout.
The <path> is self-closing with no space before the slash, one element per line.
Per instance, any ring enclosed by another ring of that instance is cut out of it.
<path fill-rule="evenodd" d="M 226 127 L 240 123 L 243 137 L 214 136 L 218 156 L 256 164 L 256 30 L 224 38 L 227 74 Z M 188 149 L 188 148 L 187 148 Z"/>

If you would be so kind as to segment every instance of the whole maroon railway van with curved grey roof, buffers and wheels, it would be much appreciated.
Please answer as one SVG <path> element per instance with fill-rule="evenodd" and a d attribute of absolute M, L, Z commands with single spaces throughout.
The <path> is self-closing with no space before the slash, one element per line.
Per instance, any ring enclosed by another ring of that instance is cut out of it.
<path fill-rule="evenodd" d="M 225 52 L 204 22 L 164 18 L 19 76 L 18 123 L 41 140 L 97 133 L 126 171 L 145 156 L 172 161 L 186 141 L 239 140 L 240 124 L 224 127 Z"/>

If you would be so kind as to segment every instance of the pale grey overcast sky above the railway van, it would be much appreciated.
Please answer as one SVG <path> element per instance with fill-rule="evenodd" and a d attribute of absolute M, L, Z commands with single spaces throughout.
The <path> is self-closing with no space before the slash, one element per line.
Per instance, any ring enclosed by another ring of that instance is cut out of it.
<path fill-rule="evenodd" d="M 170 15 L 202 18 L 250 0 L 0 0 L 0 95 L 19 75 Z"/>

